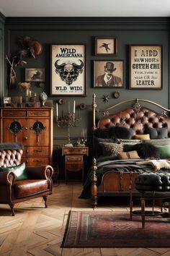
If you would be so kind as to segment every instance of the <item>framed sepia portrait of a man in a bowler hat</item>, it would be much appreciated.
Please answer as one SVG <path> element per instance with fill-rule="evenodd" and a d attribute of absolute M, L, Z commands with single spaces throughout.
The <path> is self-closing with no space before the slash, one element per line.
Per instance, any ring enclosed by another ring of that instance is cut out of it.
<path fill-rule="evenodd" d="M 125 62 L 94 61 L 94 88 L 124 88 Z"/>

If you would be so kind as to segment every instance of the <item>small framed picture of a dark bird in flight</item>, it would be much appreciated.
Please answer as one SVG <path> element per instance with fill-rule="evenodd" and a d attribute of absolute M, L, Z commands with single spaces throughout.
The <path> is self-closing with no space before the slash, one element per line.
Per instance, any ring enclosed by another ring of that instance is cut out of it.
<path fill-rule="evenodd" d="M 114 56 L 117 54 L 117 38 L 97 37 L 95 38 L 96 56 Z"/>

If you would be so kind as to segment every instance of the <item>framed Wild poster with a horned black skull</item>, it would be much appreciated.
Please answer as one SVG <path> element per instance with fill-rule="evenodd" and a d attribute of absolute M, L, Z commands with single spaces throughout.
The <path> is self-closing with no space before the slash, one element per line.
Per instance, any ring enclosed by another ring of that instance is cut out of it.
<path fill-rule="evenodd" d="M 86 95 L 86 46 L 51 46 L 51 95 Z"/>

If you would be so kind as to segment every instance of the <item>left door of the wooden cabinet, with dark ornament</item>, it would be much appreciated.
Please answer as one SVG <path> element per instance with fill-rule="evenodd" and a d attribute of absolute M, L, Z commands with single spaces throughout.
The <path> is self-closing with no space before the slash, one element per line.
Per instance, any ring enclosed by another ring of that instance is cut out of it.
<path fill-rule="evenodd" d="M 2 142 L 17 142 L 27 145 L 27 120 L 25 119 L 3 119 Z"/>

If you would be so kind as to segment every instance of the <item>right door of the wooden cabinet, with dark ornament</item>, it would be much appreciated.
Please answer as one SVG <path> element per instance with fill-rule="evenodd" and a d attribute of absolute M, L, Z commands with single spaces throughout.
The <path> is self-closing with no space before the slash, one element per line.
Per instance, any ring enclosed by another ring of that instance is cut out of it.
<path fill-rule="evenodd" d="M 29 119 L 29 145 L 49 146 L 50 145 L 50 119 Z"/>

